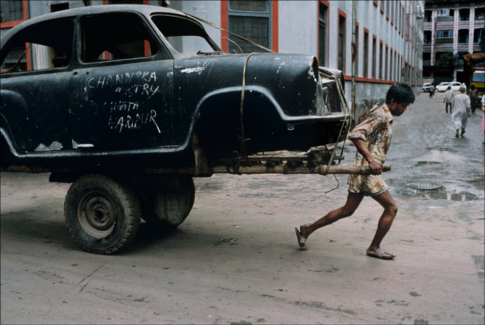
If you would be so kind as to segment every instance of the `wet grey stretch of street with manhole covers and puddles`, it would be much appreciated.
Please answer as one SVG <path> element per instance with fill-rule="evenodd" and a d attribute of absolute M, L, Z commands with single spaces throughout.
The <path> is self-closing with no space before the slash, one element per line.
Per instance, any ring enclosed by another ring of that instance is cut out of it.
<path fill-rule="evenodd" d="M 468 118 L 466 133 L 457 139 L 443 99 L 443 93 L 436 92 L 433 98 L 423 93 L 408 112 L 396 118 L 388 156 L 396 168 L 386 179 L 403 196 L 422 194 L 408 184 L 434 183 L 441 186 L 437 190 L 441 194 L 464 194 L 483 202 L 482 111 Z"/>

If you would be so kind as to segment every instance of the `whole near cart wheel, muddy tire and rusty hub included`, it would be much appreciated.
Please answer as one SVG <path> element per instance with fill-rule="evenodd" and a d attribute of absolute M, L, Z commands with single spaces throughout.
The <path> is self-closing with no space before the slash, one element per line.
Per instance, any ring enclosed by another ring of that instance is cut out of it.
<path fill-rule="evenodd" d="M 140 202 L 131 186 L 104 175 L 85 175 L 64 202 L 68 231 L 85 251 L 112 254 L 126 247 L 140 225 Z"/>

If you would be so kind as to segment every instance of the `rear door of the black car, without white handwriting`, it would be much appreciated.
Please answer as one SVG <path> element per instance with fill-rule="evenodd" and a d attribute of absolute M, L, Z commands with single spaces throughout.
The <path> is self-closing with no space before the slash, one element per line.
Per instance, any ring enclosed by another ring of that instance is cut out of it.
<path fill-rule="evenodd" d="M 75 65 L 75 16 L 29 24 L 12 35 L 5 43 L 4 48 L 7 50 L 9 44 L 24 30 L 56 21 L 71 21 L 73 23 L 69 64 L 59 68 L 2 73 L 1 76 L 2 136 L 9 143 L 12 153 L 16 156 L 42 157 L 50 156 L 52 152 L 59 153 L 72 149 L 69 123 L 69 81 Z M 49 80 L 49 74 L 52 76 L 50 78 L 52 83 L 46 83 L 46 77 Z M 26 79 L 27 77 L 28 79 Z M 18 80 L 17 83 L 15 82 L 16 79 Z M 26 80 L 27 83 L 25 83 Z M 9 87 L 10 83 L 14 84 L 13 87 Z M 32 83 L 38 84 L 39 87 L 36 88 L 35 85 L 32 87 Z M 28 88 L 28 91 L 25 90 L 24 92 L 29 93 L 27 96 L 19 93 L 19 88 L 22 88 L 22 86 Z M 51 95 L 49 96 L 49 94 Z M 61 96 L 61 99 L 59 99 L 59 96 Z M 49 98 L 54 100 L 49 101 Z M 14 105 L 9 105 L 8 102 Z M 67 106 L 61 107 L 63 105 Z M 15 109 L 10 117 L 9 107 Z M 16 130 L 16 128 L 18 129 Z"/>

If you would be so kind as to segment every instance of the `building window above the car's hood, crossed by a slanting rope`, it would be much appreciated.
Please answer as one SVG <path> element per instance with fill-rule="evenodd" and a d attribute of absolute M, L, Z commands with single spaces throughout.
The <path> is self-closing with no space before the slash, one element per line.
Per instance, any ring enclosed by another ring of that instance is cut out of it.
<path fill-rule="evenodd" d="M 270 6 L 269 1 L 239 0 L 227 1 L 228 30 L 241 35 L 262 46 L 271 48 L 270 40 Z M 243 53 L 261 52 L 261 48 L 250 45 L 235 36 L 229 39 L 238 44 Z M 229 42 L 229 53 L 240 52 L 238 46 Z"/>

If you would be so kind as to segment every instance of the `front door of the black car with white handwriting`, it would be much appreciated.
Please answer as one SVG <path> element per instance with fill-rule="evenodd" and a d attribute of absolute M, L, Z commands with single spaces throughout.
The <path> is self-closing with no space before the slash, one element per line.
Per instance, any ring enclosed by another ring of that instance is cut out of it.
<path fill-rule="evenodd" d="M 139 58 L 133 58 L 133 59 L 122 59 L 122 60 L 110 60 L 110 61 L 103 61 L 103 62 L 83 62 L 81 58 L 81 46 L 82 44 L 82 26 L 81 26 L 81 21 L 83 18 L 88 17 L 88 16 L 96 16 L 96 15 L 112 15 L 112 14 L 133 14 L 137 16 L 140 21 L 144 24 L 145 28 L 147 29 L 149 35 L 153 39 L 154 42 L 156 42 L 157 46 L 159 47 L 159 50 L 156 54 L 148 56 L 148 57 L 139 57 Z M 109 118 L 106 118 L 104 120 L 104 125 L 108 125 L 109 127 L 103 127 L 102 129 L 97 129 L 97 133 L 91 134 L 89 131 L 86 133 L 82 134 L 83 132 L 83 125 L 89 124 L 82 122 L 82 114 L 79 114 L 80 112 L 82 113 L 83 108 L 85 109 L 87 105 L 91 105 L 91 111 L 92 112 L 100 112 L 99 110 L 103 109 L 103 107 L 100 107 L 100 101 L 97 98 L 90 98 L 88 97 L 88 91 L 90 88 L 96 88 L 100 83 L 101 85 L 103 82 L 100 79 L 96 79 L 96 73 L 98 73 L 99 70 L 120 70 L 116 69 L 116 67 L 130 67 L 132 66 L 133 71 L 123 71 L 123 73 L 127 73 L 130 75 L 130 81 L 134 80 L 132 78 L 146 78 L 144 79 L 145 81 L 151 80 L 153 77 L 163 77 L 164 78 L 164 85 L 169 85 L 169 89 L 163 89 L 164 91 L 164 98 L 169 98 L 168 101 L 170 103 L 165 104 L 165 110 L 163 111 L 170 111 L 169 108 L 173 105 L 173 62 L 174 58 L 170 50 L 167 48 L 167 46 L 164 44 L 164 42 L 160 39 L 158 33 L 153 30 L 153 26 L 151 22 L 148 21 L 147 17 L 140 12 L 137 11 L 132 11 L 132 10 L 126 10 L 126 11 L 116 11 L 116 12 L 110 12 L 110 13 L 99 13 L 99 14 L 85 14 L 85 15 L 79 15 L 76 18 L 76 49 L 75 49 L 75 54 L 76 54 L 76 63 L 73 69 L 71 81 L 70 81 L 70 90 L 74 94 L 72 97 L 72 100 L 70 102 L 70 116 L 71 116 L 71 127 L 73 130 L 73 143 L 74 143 L 74 149 L 77 150 L 83 150 L 83 151 L 98 151 L 98 150 L 103 150 L 103 151 L 112 151 L 112 152 L 127 152 L 127 150 L 130 150 L 130 152 L 133 152 L 133 149 L 135 150 L 142 150 L 145 152 L 146 150 L 150 151 L 149 148 L 154 148 L 154 147 L 165 147 L 166 151 L 173 151 L 174 147 L 178 146 L 178 143 L 175 143 L 176 141 L 172 141 L 172 143 L 164 143 L 164 137 L 163 135 L 158 138 L 159 142 L 151 142 L 151 143 L 143 143 L 143 139 L 136 139 L 137 137 L 130 137 L 130 136 L 120 136 L 117 138 L 116 136 L 111 136 L 109 143 L 106 143 L 103 141 L 103 134 L 104 136 L 108 135 L 110 131 L 116 131 L 118 132 L 118 135 L 122 135 L 122 131 L 126 131 L 128 128 L 126 127 L 127 124 L 125 124 L 125 127 L 121 127 L 117 129 L 117 127 L 120 126 L 119 121 L 117 122 L 116 118 L 112 118 L 110 115 Z M 161 65 L 162 63 L 165 63 L 165 75 L 160 76 L 160 75 L 153 75 L 153 71 L 148 71 L 143 70 L 143 69 L 136 69 L 140 67 L 146 67 L 149 65 L 152 65 L 153 62 L 157 62 L 157 66 Z M 96 71 L 96 72 L 93 72 Z M 145 74 L 145 75 L 144 75 Z M 93 79 L 94 76 L 94 80 Z M 108 77 L 108 75 L 106 75 Z M 109 74 L 109 78 L 111 82 L 113 80 L 116 81 L 116 76 Z M 84 82 L 80 82 L 83 78 Z M 93 81 L 94 80 L 94 81 Z M 105 79 L 106 82 L 108 82 Z M 96 85 L 95 85 L 96 84 Z M 136 85 L 135 85 L 136 86 Z M 146 84 L 145 84 L 146 86 Z M 153 92 L 156 90 L 156 88 L 161 85 L 148 85 L 149 89 L 145 89 L 145 87 L 138 88 L 140 91 L 145 91 L 145 92 L 151 92 L 149 94 L 153 94 Z M 111 86 L 110 86 L 111 87 Z M 159 88 L 160 89 L 160 88 Z M 113 91 L 113 88 L 110 88 L 111 91 Z M 116 88 L 115 88 L 116 91 Z M 155 91 L 156 92 L 156 91 Z M 160 92 L 159 92 L 160 93 Z M 151 96 L 150 96 L 151 98 Z M 97 101 L 97 102 L 95 102 Z M 102 102 L 101 106 L 104 106 L 106 108 L 106 103 Z M 108 103 L 108 106 L 110 104 Z M 134 103 L 127 103 L 127 105 L 132 105 L 131 108 L 133 108 Z M 115 105 L 116 106 L 116 105 Z M 112 106 L 111 108 L 113 108 Z M 116 109 L 116 108 L 115 108 Z M 150 115 L 151 114 L 151 115 Z M 148 122 L 153 122 L 154 121 L 154 116 L 153 114 L 160 114 L 160 112 L 157 113 L 152 113 L 152 111 L 149 112 L 148 115 L 145 114 L 145 116 L 140 116 L 142 119 L 146 119 Z M 131 121 L 133 125 L 134 119 Z M 126 122 L 126 121 L 123 121 Z M 138 126 L 140 126 L 142 122 L 139 123 Z M 161 125 L 158 125 L 156 123 L 152 123 L 152 129 L 155 130 L 155 133 L 152 134 L 152 136 L 157 136 L 157 131 L 158 134 L 162 134 L 163 127 Z M 145 138 L 142 135 L 141 138 Z M 146 138 L 145 138 L 146 139 Z M 120 142 L 122 145 L 116 145 L 115 142 Z M 127 143 L 128 141 L 131 141 L 130 143 Z M 138 145 L 135 143 L 137 142 Z M 162 150 L 164 151 L 164 150 Z"/>

